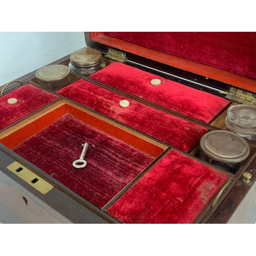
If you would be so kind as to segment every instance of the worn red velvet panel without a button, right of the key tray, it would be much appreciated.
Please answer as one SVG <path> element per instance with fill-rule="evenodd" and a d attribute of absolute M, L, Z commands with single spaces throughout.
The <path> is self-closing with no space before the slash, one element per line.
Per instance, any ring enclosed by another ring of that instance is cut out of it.
<path fill-rule="evenodd" d="M 227 179 L 172 150 L 107 212 L 122 223 L 194 223 Z"/>

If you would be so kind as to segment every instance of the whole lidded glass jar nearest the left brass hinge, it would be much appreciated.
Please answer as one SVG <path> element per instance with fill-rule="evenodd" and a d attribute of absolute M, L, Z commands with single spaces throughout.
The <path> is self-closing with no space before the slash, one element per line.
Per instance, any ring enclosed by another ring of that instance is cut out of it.
<path fill-rule="evenodd" d="M 105 67 L 100 51 L 91 48 L 82 48 L 70 55 L 70 69 L 80 75 L 89 76 Z"/>

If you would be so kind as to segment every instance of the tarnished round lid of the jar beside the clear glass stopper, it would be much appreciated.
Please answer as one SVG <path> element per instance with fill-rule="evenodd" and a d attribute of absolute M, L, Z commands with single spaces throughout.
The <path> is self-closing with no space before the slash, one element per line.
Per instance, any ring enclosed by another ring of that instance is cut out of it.
<path fill-rule="evenodd" d="M 200 140 L 203 153 L 212 160 L 222 163 L 239 163 L 250 153 L 246 140 L 228 131 L 212 131 Z"/>

